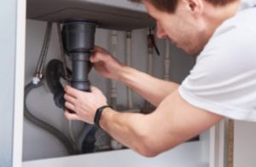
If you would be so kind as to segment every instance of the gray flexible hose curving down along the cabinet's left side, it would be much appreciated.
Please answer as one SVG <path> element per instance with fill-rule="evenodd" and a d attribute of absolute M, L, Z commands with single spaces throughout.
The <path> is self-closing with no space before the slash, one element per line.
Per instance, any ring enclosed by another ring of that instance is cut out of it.
<path fill-rule="evenodd" d="M 54 135 L 61 143 L 66 147 L 67 152 L 71 155 L 78 153 L 76 147 L 73 145 L 71 141 L 67 139 L 65 135 L 61 133 L 60 130 L 55 129 L 55 127 L 51 126 L 50 124 L 45 123 L 41 119 L 35 117 L 31 112 L 29 112 L 28 108 L 26 107 L 26 96 L 30 93 L 32 89 L 40 87 L 40 84 L 28 83 L 25 87 L 25 97 L 24 97 L 24 116 L 27 120 L 29 120 L 32 124 L 37 125 L 38 127 L 46 130 L 51 135 Z"/>

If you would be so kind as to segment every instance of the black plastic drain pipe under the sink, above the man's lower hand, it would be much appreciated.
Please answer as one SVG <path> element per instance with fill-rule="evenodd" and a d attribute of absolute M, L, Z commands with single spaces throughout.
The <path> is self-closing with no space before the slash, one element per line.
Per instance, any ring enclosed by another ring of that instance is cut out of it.
<path fill-rule="evenodd" d="M 90 53 L 94 48 L 96 24 L 88 21 L 67 21 L 62 29 L 65 52 L 72 60 L 71 86 L 90 91 Z"/>

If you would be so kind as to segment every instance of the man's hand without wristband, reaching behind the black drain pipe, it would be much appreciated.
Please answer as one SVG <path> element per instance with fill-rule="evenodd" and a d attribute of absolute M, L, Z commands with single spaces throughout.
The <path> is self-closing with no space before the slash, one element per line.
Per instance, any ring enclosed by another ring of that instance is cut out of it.
<path fill-rule="evenodd" d="M 125 65 L 114 59 L 107 50 L 95 47 L 90 62 L 94 64 L 96 71 L 105 78 L 118 80 Z"/>

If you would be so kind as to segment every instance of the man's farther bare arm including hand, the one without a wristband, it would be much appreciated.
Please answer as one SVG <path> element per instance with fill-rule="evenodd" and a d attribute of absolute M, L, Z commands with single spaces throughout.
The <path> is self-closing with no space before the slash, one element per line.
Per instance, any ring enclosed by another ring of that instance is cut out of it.
<path fill-rule="evenodd" d="M 124 83 L 155 106 L 159 105 L 160 101 L 178 86 L 177 83 L 154 78 L 144 72 L 125 66 L 100 47 L 95 48 L 90 61 L 103 77 Z"/>

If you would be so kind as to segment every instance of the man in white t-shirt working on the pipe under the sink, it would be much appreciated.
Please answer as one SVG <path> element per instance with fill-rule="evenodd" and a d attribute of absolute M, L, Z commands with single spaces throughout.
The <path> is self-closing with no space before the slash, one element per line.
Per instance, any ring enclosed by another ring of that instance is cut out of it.
<path fill-rule="evenodd" d="M 141 2 L 137 0 L 136 2 Z M 148 115 L 120 113 L 102 91 L 67 86 L 68 119 L 97 124 L 127 147 L 153 157 L 208 130 L 224 117 L 256 121 L 256 3 L 240 0 L 142 0 L 157 36 L 198 55 L 181 85 L 121 64 L 96 47 L 91 62 L 105 78 L 154 104 Z M 103 108 L 101 108 L 103 107 Z M 97 111 L 97 112 L 96 112 Z M 154 133 L 153 133 L 154 132 Z"/>

